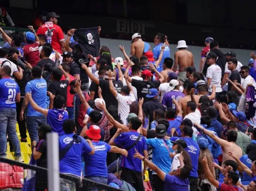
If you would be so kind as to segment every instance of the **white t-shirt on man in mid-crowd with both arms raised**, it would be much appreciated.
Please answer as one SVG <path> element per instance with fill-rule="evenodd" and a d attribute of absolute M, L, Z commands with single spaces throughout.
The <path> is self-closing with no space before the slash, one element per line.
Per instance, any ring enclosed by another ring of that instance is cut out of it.
<path fill-rule="evenodd" d="M 130 95 L 121 95 L 117 94 L 118 100 L 118 113 L 120 114 L 121 120 L 123 120 L 124 125 L 126 125 L 126 118 L 130 112 L 130 105 L 133 101 L 135 101 L 134 95 L 131 93 Z"/>

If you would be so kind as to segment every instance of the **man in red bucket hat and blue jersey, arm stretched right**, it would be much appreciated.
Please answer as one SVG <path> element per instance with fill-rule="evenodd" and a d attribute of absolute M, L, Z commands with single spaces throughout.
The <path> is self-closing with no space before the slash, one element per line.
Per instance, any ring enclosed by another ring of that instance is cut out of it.
<path fill-rule="evenodd" d="M 124 156 L 127 156 L 128 152 L 125 149 L 120 149 L 106 142 L 99 141 L 101 138 L 100 130 L 97 125 L 92 125 L 86 130 L 86 135 L 92 141 L 95 152 L 94 155 L 83 155 L 85 161 L 84 172 L 87 179 L 107 184 L 107 152 L 120 153 Z M 97 189 L 91 187 L 90 190 Z"/>

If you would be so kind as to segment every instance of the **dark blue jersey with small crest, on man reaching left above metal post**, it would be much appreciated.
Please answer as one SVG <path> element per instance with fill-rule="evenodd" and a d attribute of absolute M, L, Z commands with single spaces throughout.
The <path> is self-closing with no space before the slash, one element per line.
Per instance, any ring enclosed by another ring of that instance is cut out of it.
<path fill-rule="evenodd" d="M 62 124 L 68 118 L 69 114 L 64 109 L 48 110 L 47 123 L 52 126 L 53 132 L 57 132 L 61 136 L 65 134 Z"/>

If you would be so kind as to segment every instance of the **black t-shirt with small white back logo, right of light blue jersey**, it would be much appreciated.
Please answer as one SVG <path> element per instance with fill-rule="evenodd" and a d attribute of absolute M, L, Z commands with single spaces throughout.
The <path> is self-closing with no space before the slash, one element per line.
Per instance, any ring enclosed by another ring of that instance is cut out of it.
<path fill-rule="evenodd" d="M 52 81 L 51 84 L 48 87 L 48 91 L 51 92 L 53 95 L 62 95 L 64 99 L 66 100 L 66 91 L 69 86 L 68 80 L 62 80 L 62 81 Z M 66 103 L 65 103 L 66 105 Z"/>

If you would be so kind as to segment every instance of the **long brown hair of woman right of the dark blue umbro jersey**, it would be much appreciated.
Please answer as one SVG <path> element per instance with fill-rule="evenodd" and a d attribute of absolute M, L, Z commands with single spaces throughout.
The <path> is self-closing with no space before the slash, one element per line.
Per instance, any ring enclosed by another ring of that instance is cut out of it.
<path fill-rule="evenodd" d="M 205 177 L 205 169 L 202 163 L 203 158 L 206 157 L 208 161 L 208 167 L 211 170 L 212 175 L 215 177 L 215 170 L 211 166 L 211 164 L 214 162 L 214 158 L 212 157 L 211 152 L 208 148 L 200 148 L 200 155 L 198 157 L 198 177 L 200 180 L 206 179 Z"/>

